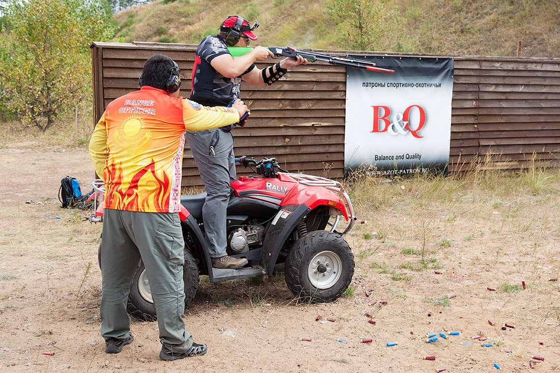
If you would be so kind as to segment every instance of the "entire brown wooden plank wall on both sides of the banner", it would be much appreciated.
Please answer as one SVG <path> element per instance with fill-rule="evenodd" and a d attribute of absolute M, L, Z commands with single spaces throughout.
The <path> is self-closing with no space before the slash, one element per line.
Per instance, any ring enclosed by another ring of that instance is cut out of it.
<path fill-rule="evenodd" d="M 188 97 L 195 50 L 196 45 L 189 44 L 93 43 L 96 119 L 115 97 L 138 89 L 143 64 L 155 53 L 179 64 L 184 76 L 181 92 Z M 454 59 L 450 170 L 468 170 L 476 157 L 491 157 L 489 168 L 517 170 L 533 153 L 558 165 L 560 59 Z M 274 62 L 267 59 L 257 65 Z M 251 118 L 246 128 L 235 130 L 236 155 L 276 156 L 290 171 L 343 175 L 346 68 L 325 63 L 297 66 L 272 86 L 242 83 L 241 91 Z M 237 171 L 248 174 L 240 166 Z M 201 184 L 186 144 L 183 185 Z"/>

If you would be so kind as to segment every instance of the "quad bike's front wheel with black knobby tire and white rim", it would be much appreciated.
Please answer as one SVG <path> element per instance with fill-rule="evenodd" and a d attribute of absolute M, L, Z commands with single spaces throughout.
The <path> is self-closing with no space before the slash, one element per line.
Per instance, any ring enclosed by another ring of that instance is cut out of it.
<path fill-rule="evenodd" d="M 334 232 L 314 231 L 300 237 L 286 258 L 284 275 L 290 291 L 314 302 L 332 302 L 350 285 L 354 255 Z"/>

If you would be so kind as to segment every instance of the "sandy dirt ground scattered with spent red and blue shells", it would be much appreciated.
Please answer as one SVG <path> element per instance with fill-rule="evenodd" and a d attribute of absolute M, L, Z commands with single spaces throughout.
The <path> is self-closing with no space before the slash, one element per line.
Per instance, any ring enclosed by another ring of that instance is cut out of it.
<path fill-rule="evenodd" d="M 418 261 L 403 249 L 416 250 L 422 238 L 403 233 L 413 225 L 398 220 L 399 206 L 376 214 L 375 207 L 357 205 L 369 222 L 346 237 L 356 255 L 353 294 L 307 304 L 293 298 L 281 275 L 265 282 L 202 279 L 185 323 L 208 353 L 163 362 L 155 322 L 133 320 L 133 344 L 118 355 L 104 352 L 101 225 L 82 221 L 83 211 L 61 209 L 57 198 L 67 175 L 90 189 L 87 149 L 8 143 L 0 164 L 2 372 L 478 372 L 496 370 L 494 363 L 515 372 L 560 370 L 560 282 L 548 281 L 560 277 L 556 200 L 524 201 L 507 220 L 498 205 L 482 222 L 467 209 L 452 225 L 434 227 L 433 237 L 454 244 L 431 253 L 431 267 L 423 270 L 405 265 Z M 540 209 L 527 207 L 533 205 Z M 522 230 L 524 224 L 530 228 Z M 515 328 L 503 330 L 505 323 Z M 424 334 L 449 332 L 459 335 L 424 342 Z M 472 338 L 480 332 L 493 347 Z M 361 343 L 366 338 L 372 343 Z M 398 344 L 386 346 L 391 342 Z"/>

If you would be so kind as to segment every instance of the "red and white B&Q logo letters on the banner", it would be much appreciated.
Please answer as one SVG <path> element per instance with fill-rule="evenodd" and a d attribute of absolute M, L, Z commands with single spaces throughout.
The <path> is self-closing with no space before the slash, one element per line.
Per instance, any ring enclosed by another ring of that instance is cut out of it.
<path fill-rule="evenodd" d="M 408 106 L 407 110 L 404 110 L 404 113 L 395 113 L 393 115 L 393 122 L 390 120 L 391 109 L 388 106 L 371 106 L 374 108 L 374 129 L 371 132 L 387 132 L 391 136 L 395 136 L 398 134 L 407 134 L 411 133 L 412 136 L 416 138 L 422 138 L 419 132 L 426 124 L 426 111 L 422 109 L 419 105 L 410 105 Z M 382 109 L 382 113 L 381 113 Z M 420 118 L 418 119 L 418 123 L 410 123 L 410 112 L 412 110 L 418 110 Z M 382 126 L 382 129 L 380 127 Z M 412 128 L 411 128 L 412 127 Z M 415 129 L 413 129 L 415 128 Z"/>

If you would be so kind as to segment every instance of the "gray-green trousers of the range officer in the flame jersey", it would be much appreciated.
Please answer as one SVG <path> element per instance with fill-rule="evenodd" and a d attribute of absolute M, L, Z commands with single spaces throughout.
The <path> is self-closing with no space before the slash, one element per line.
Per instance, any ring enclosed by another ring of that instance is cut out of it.
<path fill-rule="evenodd" d="M 177 213 L 133 212 L 106 208 L 101 240 L 101 335 L 130 335 L 127 300 L 140 258 L 156 306 L 160 340 L 173 352 L 193 344 L 183 321 L 183 233 Z"/>

